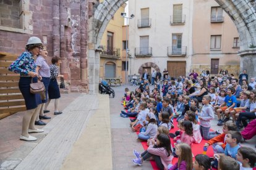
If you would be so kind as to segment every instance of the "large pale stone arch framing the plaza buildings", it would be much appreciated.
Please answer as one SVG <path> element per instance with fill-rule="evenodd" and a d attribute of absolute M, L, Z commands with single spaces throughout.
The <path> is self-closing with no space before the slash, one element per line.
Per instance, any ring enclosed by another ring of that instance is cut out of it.
<path fill-rule="evenodd" d="M 88 20 L 88 75 L 90 94 L 98 91 L 100 51 L 99 45 L 109 20 L 127 0 L 105 0 L 95 4 L 94 15 Z M 249 0 L 215 0 L 231 17 L 239 33 L 241 49 L 241 70 L 246 67 L 244 55 L 256 54 L 256 13 Z M 253 52 L 252 52 L 252 48 Z M 255 58 L 254 56 L 250 58 Z M 249 59 L 250 59 L 249 58 Z M 248 58 L 246 58 L 247 60 Z M 253 59 L 252 62 L 253 62 Z M 248 62 L 248 61 L 247 61 Z M 255 74 L 249 73 L 249 76 Z"/>

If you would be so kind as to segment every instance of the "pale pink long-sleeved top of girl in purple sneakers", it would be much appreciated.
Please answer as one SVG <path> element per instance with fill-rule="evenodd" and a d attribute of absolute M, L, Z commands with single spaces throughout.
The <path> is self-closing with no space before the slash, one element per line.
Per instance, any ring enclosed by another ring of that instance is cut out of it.
<path fill-rule="evenodd" d="M 173 155 L 168 156 L 168 153 L 164 148 L 153 148 L 154 145 L 148 147 L 148 152 L 153 155 L 158 155 L 161 158 L 161 163 L 164 166 L 164 169 L 168 169 L 168 164 L 171 164 L 173 160 Z"/>

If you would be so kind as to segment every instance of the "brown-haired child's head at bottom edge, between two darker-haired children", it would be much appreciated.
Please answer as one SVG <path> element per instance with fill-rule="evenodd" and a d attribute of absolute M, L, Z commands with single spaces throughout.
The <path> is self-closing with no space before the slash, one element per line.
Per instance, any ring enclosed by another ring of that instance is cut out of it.
<path fill-rule="evenodd" d="M 222 155 L 220 156 L 218 170 L 239 170 L 239 164 L 234 158 Z"/>

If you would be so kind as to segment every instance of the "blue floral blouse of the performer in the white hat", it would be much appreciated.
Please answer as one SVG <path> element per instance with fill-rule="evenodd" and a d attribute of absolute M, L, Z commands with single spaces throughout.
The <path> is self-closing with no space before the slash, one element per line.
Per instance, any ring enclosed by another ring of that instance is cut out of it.
<path fill-rule="evenodd" d="M 20 73 L 20 76 L 28 76 L 28 71 L 35 72 L 36 63 L 32 52 L 23 52 L 17 60 L 15 60 L 9 67 L 9 71 Z"/>

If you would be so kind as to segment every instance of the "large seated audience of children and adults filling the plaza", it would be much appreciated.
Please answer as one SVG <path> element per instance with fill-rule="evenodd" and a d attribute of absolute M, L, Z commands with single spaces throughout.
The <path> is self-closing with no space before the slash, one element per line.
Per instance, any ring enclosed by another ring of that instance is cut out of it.
<path fill-rule="evenodd" d="M 165 70 L 166 71 L 166 70 Z M 155 71 L 154 71 L 155 72 Z M 160 73 L 157 71 L 156 74 Z M 166 72 L 165 72 L 166 73 Z M 255 78 L 246 70 L 239 79 L 221 70 L 213 78 L 209 71 L 198 75 L 195 70 L 186 78 L 155 78 L 148 81 L 148 73 L 135 92 L 125 90 L 124 110 L 120 116 L 130 117 L 132 131 L 139 132 L 138 141 L 147 141 L 143 153 L 134 150 L 134 164 L 142 165 L 150 158 L 159 169 L 252 169 L 256 152 L 242 147 L 241 142 L 256 134 Z M 153 89 L 150 89 L 150 84 Z M 211 121 L 218 117 L 223 132 L 210 131 Z M 135 117 L 135 118 L 134 118 Z M 178 131 L 170 133 L 177 121 Z M 174 144 L 171 144 L 173 138 Z M 192 144 L 207 140 L 204 150 L 213 148 L 213 157 L 192 153 Z M 178 162 L 171 164 L 174 157 Z"/>

